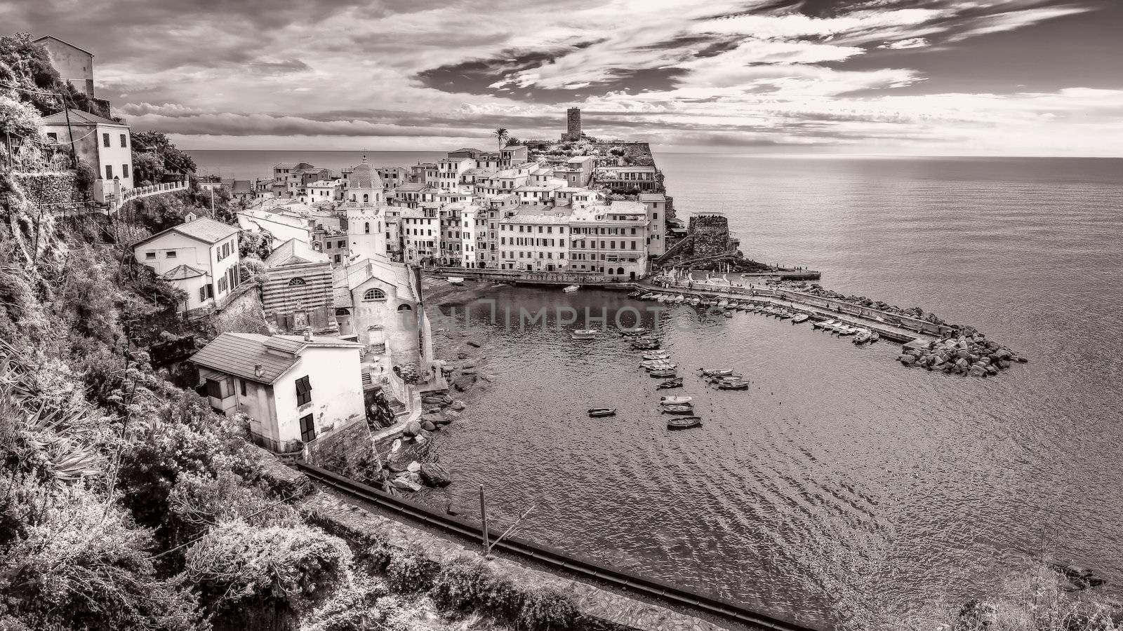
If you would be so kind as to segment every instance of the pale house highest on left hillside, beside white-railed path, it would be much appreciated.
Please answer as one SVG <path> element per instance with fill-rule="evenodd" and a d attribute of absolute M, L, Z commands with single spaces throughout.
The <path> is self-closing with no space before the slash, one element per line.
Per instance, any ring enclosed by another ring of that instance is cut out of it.
<path fill-rule="evenodd" d="M 120 200 L 136 186 L 133 181 L 133 138 L 125 124 L 81 110 L 63 110 L 43 118 L 47 139 L 73 144 L 80 159 L 98 173 L 93 196 L 99 202 Z"/>

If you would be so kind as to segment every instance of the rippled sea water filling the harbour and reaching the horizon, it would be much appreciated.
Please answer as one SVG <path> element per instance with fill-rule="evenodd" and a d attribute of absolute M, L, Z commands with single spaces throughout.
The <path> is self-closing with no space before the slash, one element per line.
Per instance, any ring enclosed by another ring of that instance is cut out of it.
<path fill-rule="evenodd" d="M 192 155 L 201 172 L 254 177 L 360 154 Z M 763 316 L 495 287 L 499 318 L 453 316 L 491 381 L 441 432 L 456 482 L 426 501 L 471 507 L 482 484 L 493 520 L 533 506 L 520 537 L 820 627 L 935 620 L 1017 593 L 1040 558 L 1092 568 L 1119 596 L 1123 159 L 655 157 L 678 216 L 724 213 L 748 257 L 973 324 L 1029 363 L 950 376 L 902 367 L 894 344 Z M 573 340 L 586 323 L 570 310 L 657 329 L 685 376 L 673 393 L 694 397 L 703 426 L 667 431 L 657 379 L 618 337 Z M 702 366 L 751 387 L 710 390 Z M 593 406 L 618 413 L 590 419 Z"/>

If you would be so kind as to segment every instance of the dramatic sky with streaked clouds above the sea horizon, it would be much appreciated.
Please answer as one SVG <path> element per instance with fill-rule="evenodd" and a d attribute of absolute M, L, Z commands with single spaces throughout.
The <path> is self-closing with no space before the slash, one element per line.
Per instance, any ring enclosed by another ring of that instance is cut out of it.
<path fill-rule="evenodd" d="M 1123 0 L 0 0 L 189 148 L 1123 155 Z"/>

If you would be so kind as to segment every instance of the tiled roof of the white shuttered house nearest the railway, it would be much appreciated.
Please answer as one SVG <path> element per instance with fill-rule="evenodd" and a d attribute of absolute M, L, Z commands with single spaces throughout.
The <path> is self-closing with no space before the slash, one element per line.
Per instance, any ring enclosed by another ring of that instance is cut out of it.
<path fill-rule="evenodd" d="M 363 345 L 338 338 L 313 336 L 263 336 L 259 333 L 221 333 L 202 350 L 191 356 L 198 366 L 258 383 L 274 383 L 296 365 L 300 353 L 308 347 L 363 348 Z M 255 372 L 261 364 L 262 374 Z"/>

